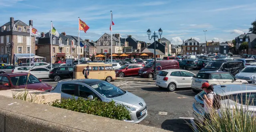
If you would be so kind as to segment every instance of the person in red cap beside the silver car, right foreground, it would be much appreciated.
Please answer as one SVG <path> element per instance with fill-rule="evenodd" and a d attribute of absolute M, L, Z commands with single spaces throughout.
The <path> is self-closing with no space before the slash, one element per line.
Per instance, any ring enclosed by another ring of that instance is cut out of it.
<path fill-rule="evenodd" d="M 206 94 L 204 94 L 204 118 L 210 119 L 210 112 L 212 112 L 212 104 L 214 101 L 214 90 L 213 86 L 210 86 L 208 82 L 204 82 L 201 87 Z"/>

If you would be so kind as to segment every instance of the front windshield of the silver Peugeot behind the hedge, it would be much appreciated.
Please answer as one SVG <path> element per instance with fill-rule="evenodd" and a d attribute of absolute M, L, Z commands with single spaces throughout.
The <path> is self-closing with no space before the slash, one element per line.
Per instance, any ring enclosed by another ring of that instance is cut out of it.
<path fill-rule="evenodd" d="M 117 86 L 105 81 L 99 82 L 97 84 L 91 84 L 91 87 L 106 98 L 114 98 L 126 93 L 124 90 L 121 90 Z"/>

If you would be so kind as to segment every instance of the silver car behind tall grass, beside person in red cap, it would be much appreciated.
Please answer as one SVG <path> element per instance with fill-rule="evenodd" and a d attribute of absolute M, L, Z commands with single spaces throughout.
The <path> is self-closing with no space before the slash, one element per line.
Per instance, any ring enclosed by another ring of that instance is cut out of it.
<path fill-rule="evenodd" d="M 224 106 L 224 108 L 225 106 L 228 106 L 229 108 L 234 108 L 234 106 L 236 105 L 244 105 L 243 108 L 245 109 L 245 111 L 252 110 L 252 114 L 255 113 L 256 102 L 255 99 L 253 98 L 256 96 L 255 85 L 228 84 L 225 86 L 215 85 L 213 87 L 214 93 L 221 99 L 220 105 Z M 204 116 L 204 94 L 206 94 L 206 92 L 203 90 L 195 96 L 195 100 L 192 107 L 194 109 L 194 112 L 196 112 L 197 114 L 194 114 L 194 116 Z M 248 102 L 246 102 L 246 100 L 248 100 Z M 244 102 L 248 103 L 248 105 L 246 105 Z"/>

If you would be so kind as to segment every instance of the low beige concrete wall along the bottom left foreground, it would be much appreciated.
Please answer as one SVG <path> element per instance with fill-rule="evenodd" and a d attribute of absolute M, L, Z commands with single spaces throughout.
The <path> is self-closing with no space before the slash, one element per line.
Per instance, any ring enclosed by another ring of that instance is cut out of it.
<path fill-rule="evenodd" d="M 0 96 L 0 132 L 169 132 Z"/>

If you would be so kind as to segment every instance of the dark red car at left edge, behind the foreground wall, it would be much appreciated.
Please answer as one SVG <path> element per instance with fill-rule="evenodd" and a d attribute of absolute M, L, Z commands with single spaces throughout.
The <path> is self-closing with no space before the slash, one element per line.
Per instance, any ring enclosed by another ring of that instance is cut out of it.
<path fill-rule="evenodd" d="M 0 74 L 0 90 L 26 88 L 40 91 L 50 91 L 52 86 L 28 73 Z"/>

